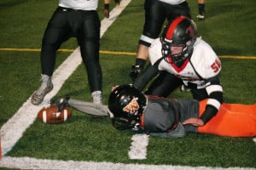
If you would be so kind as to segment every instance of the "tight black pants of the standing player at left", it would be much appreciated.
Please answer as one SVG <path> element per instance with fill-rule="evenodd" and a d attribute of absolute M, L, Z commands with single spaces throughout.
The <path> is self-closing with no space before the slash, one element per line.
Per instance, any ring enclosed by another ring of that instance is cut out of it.
<path fill-rule="evenodd" d="M 44 32 L 41 51 L 42 74 L 52 76 L 56 50 L 70 37 L 76 37 L 87 71 L 90 91 L 102 90 L 102 68 L 99 62 L 100 27 L 96 11 L 58 7 Z"/>

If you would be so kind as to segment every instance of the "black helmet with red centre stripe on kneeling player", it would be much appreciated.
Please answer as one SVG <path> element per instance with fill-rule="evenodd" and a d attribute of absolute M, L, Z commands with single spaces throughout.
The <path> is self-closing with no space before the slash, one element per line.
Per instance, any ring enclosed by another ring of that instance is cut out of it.
<path fill-rule="evenodd" d="M 196 37 L 195 22 L 188 17 L 179 16 L 167 24 L 160 37 L 162 54 L 166 62 L 182 65 L 193 51 Z"/>

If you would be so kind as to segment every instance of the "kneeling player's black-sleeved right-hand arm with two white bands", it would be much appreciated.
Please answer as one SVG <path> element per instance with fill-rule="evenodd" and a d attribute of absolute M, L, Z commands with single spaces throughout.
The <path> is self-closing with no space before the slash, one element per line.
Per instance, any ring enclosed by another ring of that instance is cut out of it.
<path fill-rule="evenodd" d="M 220 105 L 223 103 L 223 88 L 220 84 L 218 76 L 212 77 L 206 82 L 206 90 L 208 94 L 206 110 L 201 115 L 201 120 L 206 124 L 218 113 Z"/>

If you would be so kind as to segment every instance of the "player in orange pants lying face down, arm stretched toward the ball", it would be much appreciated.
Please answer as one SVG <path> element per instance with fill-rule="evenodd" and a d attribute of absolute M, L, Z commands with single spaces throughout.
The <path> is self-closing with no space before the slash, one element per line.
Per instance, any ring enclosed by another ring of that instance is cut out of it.
<path fill-rule="evenodd" d="M 60 100 L 59 100 L 60 101 Z M 96 116 L 108 116 L 113 127 L 132 129 L 163 138 L 181 138 L 187 132 L 209 133 L 230 137 L 256 136 L 256 104 L 221 105 L 218 114 L 205 126 L 186 124 L 191 117 L 201 116 L 207 100 L 166 99 L 142 94 L 131 84 L 114 88 L 107 105 L 96 105 L 75 99 L 63 99 L 61 105 Z"/>

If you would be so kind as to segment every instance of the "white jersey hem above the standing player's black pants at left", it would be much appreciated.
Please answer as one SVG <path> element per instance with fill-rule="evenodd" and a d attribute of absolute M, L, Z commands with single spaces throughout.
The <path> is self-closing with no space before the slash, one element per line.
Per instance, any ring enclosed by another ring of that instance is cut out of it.
<path fill-rule="evenodd" d="M 59 0 L 59 6 L 64 8 L 96 10 L 99 0 Z"/>

